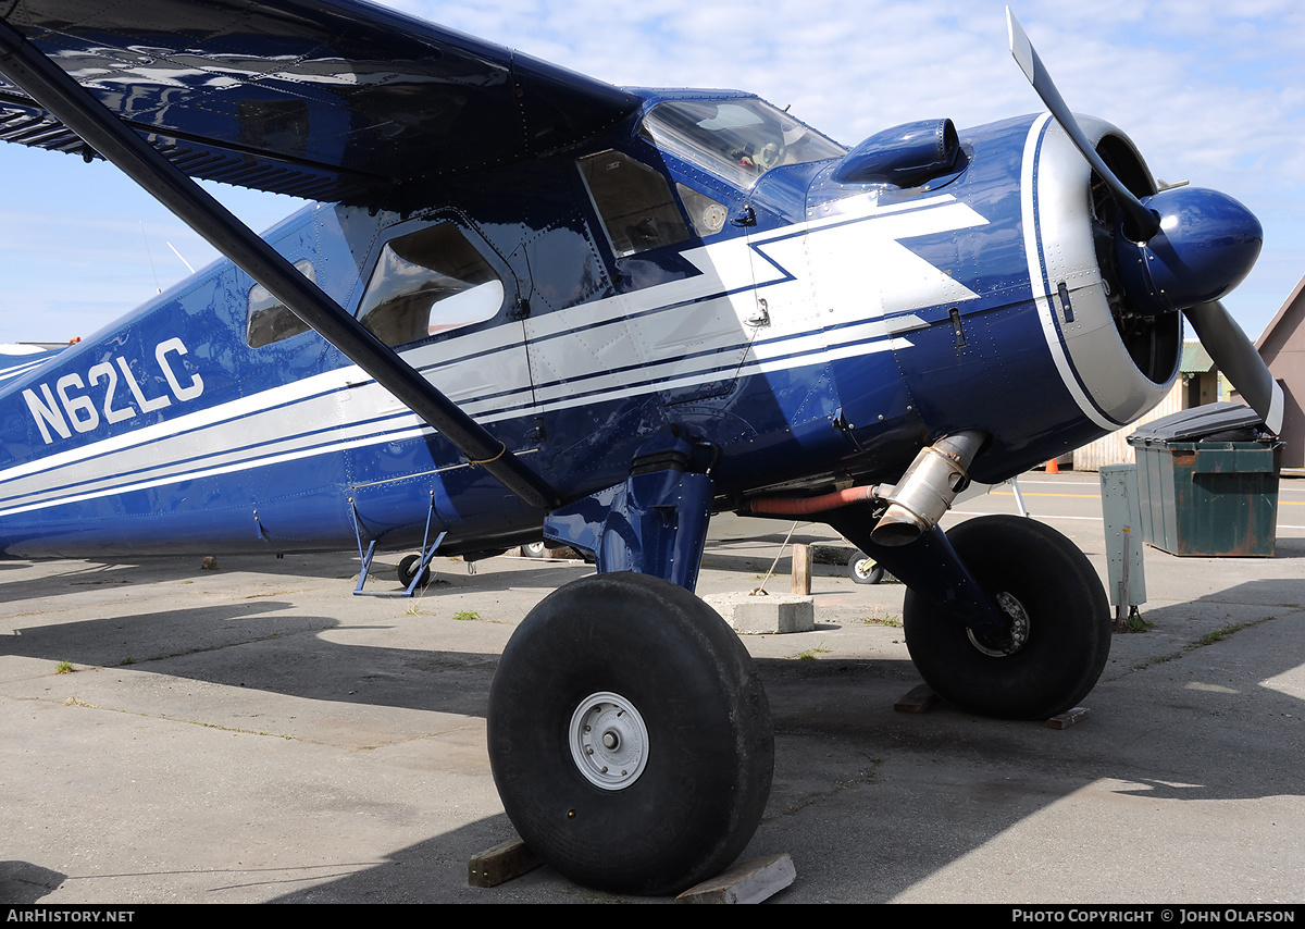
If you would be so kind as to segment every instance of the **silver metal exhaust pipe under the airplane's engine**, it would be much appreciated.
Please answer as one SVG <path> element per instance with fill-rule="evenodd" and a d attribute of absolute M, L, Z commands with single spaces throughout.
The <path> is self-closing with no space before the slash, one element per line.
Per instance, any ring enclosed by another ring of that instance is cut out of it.
<path fill-rule="evenodd" d="M 877 545 L 906 545 L 932 530 L 970 484 L 970 464 L 988 441 L 980 429 L 963 429 L 920 449 L 887 496 L 887 511 L 870 532 Z"/>

